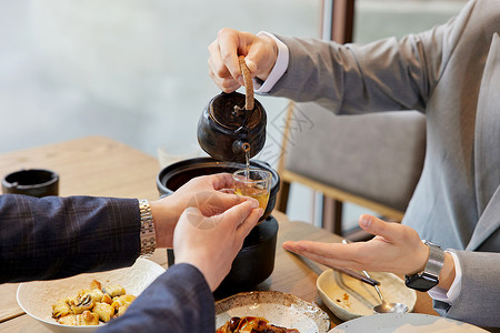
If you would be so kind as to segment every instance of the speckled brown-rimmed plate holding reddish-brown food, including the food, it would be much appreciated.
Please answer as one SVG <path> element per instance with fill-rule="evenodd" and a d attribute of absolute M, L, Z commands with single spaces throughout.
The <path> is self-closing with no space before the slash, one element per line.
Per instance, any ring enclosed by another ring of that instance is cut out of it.
<path fill-rule="evenodd" d="M 216 327 L 217 333 L 317 333 L 330 329 L 330 319 L 317 305 L 292 294 L 254 291 L 218 301 Z"/>

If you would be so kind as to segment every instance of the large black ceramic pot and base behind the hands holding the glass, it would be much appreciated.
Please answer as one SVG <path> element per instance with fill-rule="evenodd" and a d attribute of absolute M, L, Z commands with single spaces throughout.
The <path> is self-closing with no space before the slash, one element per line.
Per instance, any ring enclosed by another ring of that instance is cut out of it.
<path fill-rule="evenodd" d="M 169 195 L 192 178 L 220 172 L 232 173 L 246 165 L 238 162 L 221 162 L 212 158 L 198 158 L 180 161 L 160 171 L 157 186 L 161 195 Z M 271 275 L 274 269 L 276 243 L 278 239 L 278 222 L 270 216 L 276 204 L 276 196 L 280 188 L 278 173 L 261 161 L 251 161 L 251 167 L 264 169 L 272 173 L 271 191 L 264 214 L 249 235 L 243 246 L 232 262 L 231 271 L 214 292 L 216 297 L 223 297 L 230 293 L 251 290 L 254 285 Z M 174 262 L 173 252 L 168 251 L 169 265 Z"/>

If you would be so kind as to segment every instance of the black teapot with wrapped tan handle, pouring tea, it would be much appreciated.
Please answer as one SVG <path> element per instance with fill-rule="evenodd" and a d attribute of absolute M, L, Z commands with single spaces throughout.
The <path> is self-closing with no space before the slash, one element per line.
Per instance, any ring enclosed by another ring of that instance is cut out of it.
<path fill-rule="evenodd" d="M 216 160 L 244 162 L 246 154 L 249 159 L 254 157 L 266 143 L 266 110 L 253 99 L 253 84 L 243 57 L 240 67 L 246 94 L 216 95 L 198 122 L 198 142 Z"/>

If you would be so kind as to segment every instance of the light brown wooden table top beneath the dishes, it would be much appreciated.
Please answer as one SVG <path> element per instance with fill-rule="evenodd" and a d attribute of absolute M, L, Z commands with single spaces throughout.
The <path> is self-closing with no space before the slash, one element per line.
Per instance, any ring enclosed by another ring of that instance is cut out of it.
<path fill-rule="evenodd" d="M 118 198 L 158 198 L 156 176 L 158 161 L 143 152 L 103 137 L 89 137 L 22 151 L 0 154 L 0 176 L 19 169 L 44 168 L 60 175 L 60 195 L 98 195 Z M 333 325 L 341 321 L 322 304 L 316 289 L 318 275 L 326 269 L 281 249 L 286 240 L 308 239 L 340 242 L 340 236 L 304 222 L 290 222 L 278 212 L 279 223 L 274 271 L 257 290 L 294 294 L 319 304 Z M 157 250 L 152 261 L 167 268 L 167 251 Z M 24 314 L 16 301 L 18 284 L 0 285 L 0 332 L 49 332 Z M 436 314 L 427 293 L 418 293 L 414 312 Z"/>

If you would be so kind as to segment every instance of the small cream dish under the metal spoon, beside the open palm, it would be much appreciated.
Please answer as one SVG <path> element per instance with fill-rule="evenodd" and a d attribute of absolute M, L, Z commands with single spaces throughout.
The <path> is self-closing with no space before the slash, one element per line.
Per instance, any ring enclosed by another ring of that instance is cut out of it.
<path fill-rule="evenodd" d="M 417 293 L 407 287 L 401 279 L 380 272 L 370 272 L 370 276 L 380 281 L 379 289 L 387 302 L 404 303 L 409 312 L 413 310 Z M 380 304 L 373 286 L 337 271 L 321 273 L 317 287 L 324 304 L 343 321 L 373 314 L 373 306 Z"/>

